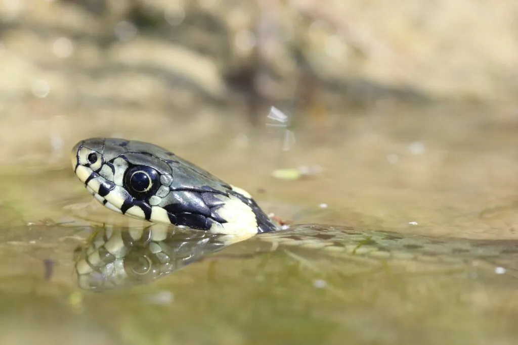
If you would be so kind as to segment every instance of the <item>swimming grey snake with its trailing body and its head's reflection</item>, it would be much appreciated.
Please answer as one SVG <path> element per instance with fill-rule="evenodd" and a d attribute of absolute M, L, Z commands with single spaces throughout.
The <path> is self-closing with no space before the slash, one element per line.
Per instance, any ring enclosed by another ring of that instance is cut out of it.
<path fill-rule="evenodd" d="M 85 139 L 71 150 L 71 163 L 100 204 L 149 223 L 140 228 L 105 224 L 91 237 L 76 260 L 84 289 L 104 291 L 156 280 L 251 238 L 274 249 L 295 246 L 380 262 L 484 266 L 516 276 L 518 241 L 281 225 L 246 190 L 151 143 Z"/>

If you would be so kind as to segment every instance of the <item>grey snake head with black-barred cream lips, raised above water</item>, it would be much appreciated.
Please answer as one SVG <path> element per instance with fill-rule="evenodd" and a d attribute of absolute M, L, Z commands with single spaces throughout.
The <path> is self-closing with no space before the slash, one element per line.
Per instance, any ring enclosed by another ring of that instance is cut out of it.
<path fill-rule="evenodd" d="M 87 190 L 114 212 L 220 234 L 278 229 L 249 193 L 160 146 L 91 138 L 74 146 L 71 162 Z"/>

